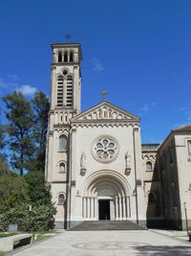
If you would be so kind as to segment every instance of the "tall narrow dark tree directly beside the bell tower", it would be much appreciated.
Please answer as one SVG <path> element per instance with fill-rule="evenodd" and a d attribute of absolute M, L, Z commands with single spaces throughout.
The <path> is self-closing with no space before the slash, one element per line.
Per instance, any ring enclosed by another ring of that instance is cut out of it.
<path fill-rule="evenodd" d="M 36 92 L 32 99 L 35 154 L 30 165 L 31 171 L 44 172 L 49 109 L 49 100 L 46 95 L 43 92 Z"/>

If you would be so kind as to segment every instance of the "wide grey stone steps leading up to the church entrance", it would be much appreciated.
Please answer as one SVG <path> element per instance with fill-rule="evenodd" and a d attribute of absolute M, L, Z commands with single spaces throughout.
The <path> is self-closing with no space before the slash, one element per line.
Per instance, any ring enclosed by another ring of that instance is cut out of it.
<path fill-rule="evenodd" d="M 68 229 L 68 231 L 92 230 L 145 230 L 132 221 L 83 221 Z"/>

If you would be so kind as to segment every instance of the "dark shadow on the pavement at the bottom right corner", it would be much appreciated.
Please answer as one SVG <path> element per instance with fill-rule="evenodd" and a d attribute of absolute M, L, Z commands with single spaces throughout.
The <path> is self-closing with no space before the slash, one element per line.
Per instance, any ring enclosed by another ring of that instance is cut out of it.
<path fill-rule="evenodd" d="M 135 247 L 138 251 L 137 255 L 155 255 L 155 256 L 177 256 L 191 255 L 191 246 L 138 246 Z"/>

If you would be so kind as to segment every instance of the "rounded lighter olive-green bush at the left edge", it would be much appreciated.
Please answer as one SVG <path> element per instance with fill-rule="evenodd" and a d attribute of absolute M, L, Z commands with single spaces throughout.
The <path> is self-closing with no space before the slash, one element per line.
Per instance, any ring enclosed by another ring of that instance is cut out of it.
<path fill-rule="evenodd" d="M 11 174 L 0 177 L 0 213 L 29 202 L 28 184 L 24 177 Z"/>

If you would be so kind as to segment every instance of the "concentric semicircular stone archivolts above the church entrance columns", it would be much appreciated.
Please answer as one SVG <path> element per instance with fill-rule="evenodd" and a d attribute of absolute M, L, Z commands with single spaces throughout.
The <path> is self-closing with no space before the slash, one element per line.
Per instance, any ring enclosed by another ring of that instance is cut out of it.
<path fill-rule="evenodd" d="M 85 181 L 81 194 L 82 196 L 95 196 L 104 187 L 116 191 L 118 197 L 129 197 L 131 194 L 125 177 L 112 170 L 101 170 L 90 175 Z"/>

